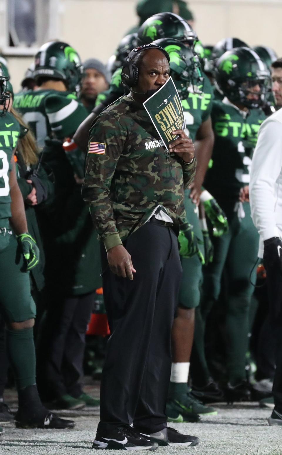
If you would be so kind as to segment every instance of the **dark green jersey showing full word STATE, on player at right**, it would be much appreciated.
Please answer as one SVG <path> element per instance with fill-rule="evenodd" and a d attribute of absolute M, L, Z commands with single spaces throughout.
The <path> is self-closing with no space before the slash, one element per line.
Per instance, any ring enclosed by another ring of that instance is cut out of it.
<path fill-rule="evenodd" d="M 225 103 L 225 100 L 213 102 L 213 164 L 206 172 L 204 187 L 216 198 L 237 201 L 241 187 L 250 181 L 257 133 L 266 115 L 261 109 L 250 109 L 244 116 L 242 111 L 228 101 L 228 104 Z"/>

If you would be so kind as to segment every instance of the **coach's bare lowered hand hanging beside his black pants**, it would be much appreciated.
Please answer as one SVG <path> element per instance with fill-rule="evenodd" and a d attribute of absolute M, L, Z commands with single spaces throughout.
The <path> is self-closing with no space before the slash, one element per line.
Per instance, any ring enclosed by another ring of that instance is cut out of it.
<path fill-rule="evenodd" d="M 133 280 L 133 273 L 136 273 L 131 262 L 131 255 L 122 245 L 110 248 L 107 253 L 109 267 L 112 273 L 118 277 Z"/>

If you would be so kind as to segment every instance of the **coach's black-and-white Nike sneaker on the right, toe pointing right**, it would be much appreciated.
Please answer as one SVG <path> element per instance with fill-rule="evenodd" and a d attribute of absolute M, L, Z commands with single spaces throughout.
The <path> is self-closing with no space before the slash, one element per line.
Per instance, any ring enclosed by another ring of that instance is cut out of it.
<path fill-rule="evenodd" d="M 148 437 L 152 442 L 157 442 L 159 445 L 171 445 L 171 446 L 181 446 L 186 445 L 197 445 L 200 440 L 196 436 L 182 435 L 179 431 L 174 428 L 164 428 L 157 433 L 151 433 L 150 435 L 145 435 L 141 433 L 142 436 Z"/>

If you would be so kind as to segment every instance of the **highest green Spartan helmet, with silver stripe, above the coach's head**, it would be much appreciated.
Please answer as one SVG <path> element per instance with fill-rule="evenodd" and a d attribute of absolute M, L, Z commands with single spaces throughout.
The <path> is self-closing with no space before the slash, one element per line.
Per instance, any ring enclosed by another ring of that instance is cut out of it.
<path fill-rule="evenodd" d="M 150 44 L 161 38 L 174 38 L 194 48 L 197 35 L 186 20 L 174 13 L 155 14 L 138 30 L 137 45 Z"/>

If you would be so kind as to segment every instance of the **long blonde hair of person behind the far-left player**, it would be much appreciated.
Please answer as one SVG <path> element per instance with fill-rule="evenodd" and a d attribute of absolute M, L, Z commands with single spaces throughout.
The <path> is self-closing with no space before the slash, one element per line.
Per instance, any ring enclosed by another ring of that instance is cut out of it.
<path fill-rule="evenodd" d="M 23 157 L 25 165 L 27 165 L 27 164 L 34 165 L 38 162 L 38 149 L 36 146 L 35 137 L 34 137 L 32 131 L 30 131 L 29 126 L 23 120 L 20 113 L 18 111 L 16 111 L 13 107 L 11 108 L 10 112 L 15 117 L 15 119 L 20 123 L 20 125 L 22 125 L 22 126 L 24 126 L 24 128 L 28 129 L 25 136 L 20 137 L 20 139 L 18 140 L 17 150 L 20 152 L 21 156 Z"/>

